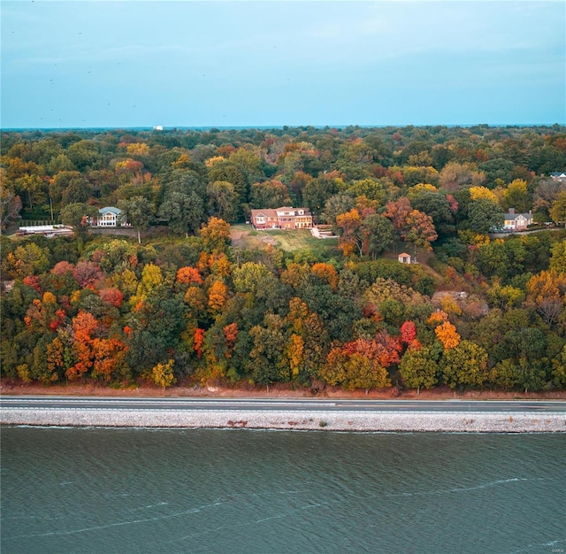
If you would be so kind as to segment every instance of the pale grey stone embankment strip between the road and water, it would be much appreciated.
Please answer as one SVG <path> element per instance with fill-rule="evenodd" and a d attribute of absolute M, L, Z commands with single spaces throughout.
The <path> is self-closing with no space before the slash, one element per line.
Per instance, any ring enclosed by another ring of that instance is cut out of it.
<path fill-rule="evenodd" d="M 560 412 L 286 412 L 21 409 L 2 407 L 0 425 L 37 427 L 249 428 L 302 431 L 566 433 Z"/>

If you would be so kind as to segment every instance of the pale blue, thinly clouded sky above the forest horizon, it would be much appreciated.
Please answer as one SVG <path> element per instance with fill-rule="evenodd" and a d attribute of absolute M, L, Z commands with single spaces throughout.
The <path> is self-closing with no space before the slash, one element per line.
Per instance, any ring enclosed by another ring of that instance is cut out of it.
<path fill-rule="evenodd" d="M 2 0 L 0 126 L 566 123 L 566 3 Z"/>

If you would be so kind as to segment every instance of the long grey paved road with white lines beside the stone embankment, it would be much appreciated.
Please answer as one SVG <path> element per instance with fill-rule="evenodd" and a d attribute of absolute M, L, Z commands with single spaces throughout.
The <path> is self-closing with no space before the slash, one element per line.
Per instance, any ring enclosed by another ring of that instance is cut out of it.
<path fill-rule="evenodd" d="M 566 412 L 566 401 L 334 400 L 300 398 L 118 398 L 0 396 L 1 408 L 285 412 Z"/>

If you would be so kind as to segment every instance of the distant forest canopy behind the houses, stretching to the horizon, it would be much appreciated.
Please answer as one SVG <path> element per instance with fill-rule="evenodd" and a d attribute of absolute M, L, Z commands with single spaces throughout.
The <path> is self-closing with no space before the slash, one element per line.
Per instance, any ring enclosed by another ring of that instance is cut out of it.
<path fill-rule="evenodd" d="M 186 234 L 286 204 L 335 224 L 402 198 L 432 218 L 437 242 L 486 232 L 509 208 L 566 219 L 563 196 L 551 213 L 566 184 L 548 179 L 566 167 L 558 125 L 3 132 L 0 149 L 3 227 L 69 204 L 121 205 L 141 227 Z"/>

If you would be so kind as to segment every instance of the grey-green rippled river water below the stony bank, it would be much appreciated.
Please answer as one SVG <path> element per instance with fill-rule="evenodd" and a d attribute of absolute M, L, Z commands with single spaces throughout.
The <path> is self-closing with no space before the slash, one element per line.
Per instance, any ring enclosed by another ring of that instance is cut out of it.
<path fill-rule="evenodd" d="M 563 434 L 3 427 L 3 554 L 563 552 Z"/>

